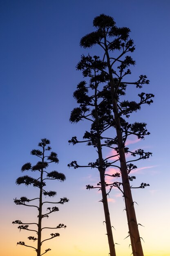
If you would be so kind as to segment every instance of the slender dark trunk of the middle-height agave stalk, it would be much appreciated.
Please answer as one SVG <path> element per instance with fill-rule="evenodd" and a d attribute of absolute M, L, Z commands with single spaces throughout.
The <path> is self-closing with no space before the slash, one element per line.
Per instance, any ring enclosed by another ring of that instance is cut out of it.
<path fill-rule="evenodd" d="M 96 94 L 96 92 L 95 92 L 95 94 Z M 109 213 L 109 207 L 108 207 L 108 202 L 107 202 L 107 193 L 106 193 L 106 187 L 105 187 L 105 170 L 103 169 L 101 139 L 100 139 L 100 133 L 98 130 L 99 123 L 98 123 L 98 113 L 97 113 L 97 100 L 95 103 L 96 103 L 95 104 L 96 105 L 95 118 L 96 118 L 96 127 L 97 127 L 97 135 L 98 135 L 98 138 L 97 138 L 98 160 L 99 160 L 98 171 L 100 172 L 102 202 L 103 202 L 103 209 L 104 209 L 104 214 L 105 214 L 105 224 L 106 224 L 107 238 L 108 238 L 109 249 L 110 249 L 110 256 L 116 256 L 113 234 L 112 234 L 112 225 L 111 225 L 111 221 L 110 221 L 110 213 Z"/>

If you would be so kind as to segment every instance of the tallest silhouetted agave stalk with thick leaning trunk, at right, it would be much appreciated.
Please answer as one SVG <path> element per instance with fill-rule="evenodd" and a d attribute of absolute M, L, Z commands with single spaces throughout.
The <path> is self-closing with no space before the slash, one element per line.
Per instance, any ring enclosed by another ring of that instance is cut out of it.
<path fill-rule="evenodd" d="M 95 72 L 98 70 L 98 82 L 101 84 L 103 83 L 103 99 L 101 100 L 101 104 L 99 104 L 100 107 L 102 106 L 104 98 L 107 100 L 110 98 L 111 100 L 112 118 L 110 119 L 110 122 L 108 122 L 108 125 L 112 124 L 111 126 L 114 128 L 116 134 L 113 138 L 105 138 L 105 145 L 103 146 L 114 149 L 117 156 L 119 156 L 120 167 L 117 167 L 120 168 L 122 177 L 122 192 L 125 198 L 132 253 L 134 256 L 143 256 L 128 174 L 136 168 L 131 162 L 139 159 L 148 159 L 151 153 L 144 152 L 142 149 L 132 152 L 125 146 L 125 142 L 130 135 L 136 135 L 139 139 L 143 139 L 145 135 L 150 134 L 146 129 L 145 123 L 134 122 L 131 124 L 128 122 L 128 118 L 132 113 L 140 110 L 143 104 L 150 105 L 150 103 L 153 102 L 152 97 L 154 97 L 154 95 L 141 92 L 138 94 L 139 101 L 123 99 L 126 95 L 128 85 L 132 86 L 134 84 L 136 88 L 140 89 L 143 84 L 149 83 L 149 80 L 147 80 L 145 75 L 139 76 L 139 79 L 134 82 L 124 80 L 125 76 L 131 74 L 129 66 L 135 64 L 135 61 L 133 61 L 131 56 L 127 55 L 128 52 L 132 53 L 135 49 L 133 40 L 129 38 L 130 29 L 127 27 L 116 27 L 114 19 L 105 14 L 101 14 L 94 18 L 93 25 L 96 27 L 96 31 L 84 36 L 81 39 L 80 45 L 84 48 L 91 48 L 94 45 L 99 45 L 101 49 L 103 49 L 103 55 L 101 57 L 83 55 L 81 61 L 77 65 L 77 69 L 83 72 L 84 77 L 90 78 L 92 75 L 96 76 Z M 85 92 L 86 91 L 84 91 L 84 94 Z M 84 96 L 84 100 L 87 101 L 88 99 Z M 85 116 L 85 112 L 89 110 L 81 107 L 81 110 L 79 109 L 78 111 L 79 115 Z M 73 114 L 74 112 L 72 112 L 72 115 Z M 78 112 L 76 115 L 78 115 Z M 89 119 L 88 115 L 84 118 Z M 136 158 L 134 160 L 126 161 L 125 154 L 127 153 L 130 153 Z M 116 161 L 117 160 L 113 163 Z M 145 183 L 142 184 L 140 186 L 141 188 L 148 185 Z"/>

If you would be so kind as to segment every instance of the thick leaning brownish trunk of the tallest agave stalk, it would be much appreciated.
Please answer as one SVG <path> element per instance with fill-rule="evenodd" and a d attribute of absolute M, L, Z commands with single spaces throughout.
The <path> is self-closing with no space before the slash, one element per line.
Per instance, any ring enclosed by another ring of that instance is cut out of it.
<path fill-rule="evenodd" d="M 120 118 L 119 118 L 119 113 L 117 108 L 117 100 L 116 100 L 115 91 L 114 91 L 112 67 L 110 65 L 110 57 L 108 54 L 106 43 L 105 43 L 105 47 L 106 47 L 105 53 L 107 56 L 107 66 L 108 66 L 109 76 L 110 76 L 110 88 L 111 88 L 111 94 L 112 94 L 114 120 L 116 123 L 116 134 L 117 134 L 119 158 L 120 158 L 120 164 L 121 164 L 121 176 L 122 176 L 122 182 L 123 182 L 123 192 L 125 197 L 125 207 L 126 207 L 127 218 L 129 219 L 129 223 L 130 223 L 130 236 L 131 236 L 131 241 L 133 241 L 134 256 L 143 256 L 141 238 L 139 235 L 138 225 L 136 221 L 134 202 L 132 199 L 132 193 L 131 193 L 130 182 L 128 177 L 128 169 L 127 169 L 127 164 L 125 159 L 125 150 L 124 150 L 124 144 L 123 144 L 122 133 L 121 133 L 121 124 L 120 124 Z"/>

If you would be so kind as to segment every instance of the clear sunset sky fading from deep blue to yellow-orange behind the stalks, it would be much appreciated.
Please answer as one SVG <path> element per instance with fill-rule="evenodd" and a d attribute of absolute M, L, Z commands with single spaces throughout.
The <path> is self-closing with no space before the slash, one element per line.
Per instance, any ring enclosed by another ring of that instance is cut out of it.
<path fill-rule="evenodd" d="M 20 231 L 13 220 L 36 220 L 37 212 L 13 203 L 13 198 L 34 197 L 38 190 L 16 186 L 20 168 L 36 163 L 30 155 L 41 138 L 51 141 L 60 160 L 52 166 L 66 175 L 63 183 L 51 181 L 49 189 L 57 191 L 56 200 L 66 196 L 69 202 L 46 220 L 47 225 L 64 223 L 60 237 L 45 244 L 49 256 L 104 256 L 109 247 L 101 202 L 101 193 L 86 190 L 85 185 L 99 181 L 98 171 L 68 168 L 73 160 L 94 162 L 94 148 L 69 145 L 73 136 L 82 138 L 88 122 L 69 123 L 76 107 L 72 97 L 83 80 L 76 64 L 82 54 L 99 54 L 85 50 L 80 39 L 94 30 L 94 17 L 105 13 L 118 27 L 129 27 L 136 50 L 132 58 L 132 80 L 146 74 L 150 85 L 142 90 L 155 95 L 151 106 L 144 106 L 134 120 L 148 124 L 150 136 L 144 141 L 134 137 L 128 142 L 132 150 L 142 147 L 153 153 L 137 163 L 136 183 L 149 183 L 145 189 L 132 191 L 136 217 L 145 256 L 170 256 L 169 230 L 169 59 L 170 2 L 168 0 L 0 0 L 0 244 L 3 256 L 36 255 L 31 248 L 16 246 L 27 242 L 31 234 Z M 130 79 L 131 79 L 130 78 Z M 136 94 L 130 91 L 130 97 Z M 110 152 L 105 151 L 107 156 Z M 29 173 L 28 173 L 29 175 Z M 26 209 L 25 209 L 26 208 Z M 110 218 L 117 256 L 129 256 L 128 227 L 122 195 L 114 189 L 109 198 Z M 46 223 L 44 223 L 46 224 Z M 48 237 L 49 231 L 43 234 Z M 29 242 L 28 242 L 29 243 Z M 30 243 L 31 245 L 31 243 Z M 34 245 L 33 245 L 34 246 Z"/>

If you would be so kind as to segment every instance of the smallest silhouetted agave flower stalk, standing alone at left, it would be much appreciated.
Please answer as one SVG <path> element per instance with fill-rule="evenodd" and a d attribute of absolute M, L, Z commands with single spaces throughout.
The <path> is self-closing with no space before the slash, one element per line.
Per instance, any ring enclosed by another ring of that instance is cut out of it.
<path fill-rule="evenodd" d="M 66 228 L 66 226 L 64 224 L 58 224 L 56 227 L 42 227 L 42 218 L 48 218 L 49 214 L 59 211 L 58 207 L 54 206 L 54 207 L 47 207 L 47 213 L 42 213 L 42 207 L 44 204 L 64 204 L 65 202 L 68 202 L 69 200 L 67 198 L 60 198 L 60 201 L 58 202 L 48 202 L 48 201 L 43 201 L 43 196 L 49 196 L 49 197 L 54 197 L 56 195 L 56 191 L 47 191 L 44 189 L 44 187 L 46 186 L 46 180 L 59 180 L 60 182 L 65 181 L 66 177 L 63 173 L 59 173 L 58 171 L 46 171 L 46 168 L 48 167 L 48 165 L 50 163 L 58 163 L 58 157 L 57 154 L 53 151 L 51 151 L 51 153 L 49 153 L 48 155 L 46 155 L 47 151 L 51 150 L 51 147 L 49 146 L 50 141 L 49 139 L 41 139 L 41 142 L 38 144 L 38 146 L 41 148 L 41 150 L 39 149 L 33 149 L 31 151 L 31 155 L 36 155 L 37 157 L 40 158 L 40 161 L 37 162 L 36 165 L 32 166 L 31 163 L 26 163 L 22 166 L 21 171 L 31 171 L 31 172 L 38 172 L 39 173 L 39 177 L 38 178 L 33 178 L 30 177 L 28 175 L 22 176 L 22 177 L 18 177 L 18 179 L 16 180 L 16 184 L 20 185 L 20 184 L 25 184 L 26 186 L 28 185 L 33 185 L 34 187 L 39 189 L 39 197 L 37 198 L 33 198 L 33 199 L 28 199 L 25 196 L 22 196 L 20 199 L 14 199 L 15 204 L 18 205 L 25 205 L 28 207 L 36 207 L 38 209 L 38 223 L 36 222 L 32 222 L 32 223 L 23 223 L 20 220 L 15 220 L 12 223 L 13 224 L 18 224 L 18 229 L 24 229 L 24 230 L 29 230 L 29 231 L 33 231 L 36 233 L 37 237 L 34 236 L 29 236 L 28 239 L 29 240 L 33 240 L 36 241 L 37 240 L 37 247 L 33 247 L 30 245 L 26 245 L 25 242 L 18 242 L 17 245 L 24 245 L 26 247 L 31 247 L 33 249 L 36 250 L 37 252 L 37 256 L 41 256 L 45 253 L 47 253 L 48 251 L 50 251 L 51 249 L 46 249 L 44 253 L 41 254 L 41 245 L 43 242 L 50 240 L 52 238 L 55 238 L 57 236 L 60 236 L 59 233 L 51 233 L 51 237 L 42 240 L 41 239 L 41 234 L 42 234 L 42 230 L 43 229 L 60 229 L 60 228 Z M 37 204 L 29 204 L 30 202 L 32 202 L 33 200 L 38 200 L 38 206 Z M 30 229 L 29 225 L 36 225 L 37 228 L 35 229 Z"/>

